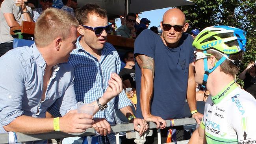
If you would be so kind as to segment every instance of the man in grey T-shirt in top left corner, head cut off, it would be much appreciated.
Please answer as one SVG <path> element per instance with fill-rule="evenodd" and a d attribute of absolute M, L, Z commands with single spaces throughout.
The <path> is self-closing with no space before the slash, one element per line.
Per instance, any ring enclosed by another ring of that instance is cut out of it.
<path fill-rule="evenodd" d="M 13 49 L 10 28 L 20 26 L 22 20 L 32 22 L 31 8 L 25 6 L 27 0 L 4 0 L 0 8 L 0 57 Z"/>

